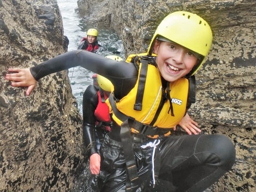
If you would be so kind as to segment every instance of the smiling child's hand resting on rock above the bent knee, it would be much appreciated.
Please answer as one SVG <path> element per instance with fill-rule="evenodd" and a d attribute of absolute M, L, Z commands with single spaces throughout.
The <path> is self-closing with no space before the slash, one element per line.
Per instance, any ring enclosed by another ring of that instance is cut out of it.
<path fill-rule="evenodd" d="M 198 124 L 190 118 L 188 114 L 186 114 L 180 121 L 179 125 L 185 130 L 188 134 L 197 134 L 200 133 L 201 130 L 197 127 Z M 176 125 L 173 127 L 173 130 L 176 130 Z"/>

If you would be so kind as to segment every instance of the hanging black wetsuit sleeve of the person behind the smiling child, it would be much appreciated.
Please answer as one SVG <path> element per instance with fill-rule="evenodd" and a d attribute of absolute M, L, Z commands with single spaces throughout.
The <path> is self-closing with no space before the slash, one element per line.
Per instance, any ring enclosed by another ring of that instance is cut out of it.
<path fill-rule="evenodd" d="M 86 154 L 90 157 L 98 153 L 94 111 L 98 106 L 98 94 L 94 85 L 89 85 L 83 95 L 83 139 Z"/>

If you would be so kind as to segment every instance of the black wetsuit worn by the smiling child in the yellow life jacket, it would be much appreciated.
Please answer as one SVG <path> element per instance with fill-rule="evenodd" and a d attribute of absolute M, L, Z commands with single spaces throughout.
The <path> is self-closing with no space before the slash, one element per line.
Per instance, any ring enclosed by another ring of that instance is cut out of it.
<path fill-rule="evenodd" d="M 122 62 L 122 63 L 120 63 Z M 93 65 L 92 65 L 93 63 Z M 60 70 L 82 66 L 108 78 L 115 87 L 115 97 L 123 98 L 134 87 L 138 70 L 133 63 L 114 61 L 87 51 L 70 51 L 30 68 L 36 80 Z M 120 142 L 120 127 L 113 122 L 100 149 L 101 191 L 125 191 L 126 162 Z M 85 139 L 94 137 L 87 134 Z M 155 166 L 159 182 L 153 188 L 151 155 L 153 148 L 142 148 L 153 139 L 134 137 L 134 157 L 139 179 L 132 191 L 203 191 L 229 171 L 235 163 L 235 148 L 224 135 L 170 135 L 157 146 Z M 151 170 L 151 171 L 150 171 Z M 157 179 L 157 180 L 158 180 Z"/>

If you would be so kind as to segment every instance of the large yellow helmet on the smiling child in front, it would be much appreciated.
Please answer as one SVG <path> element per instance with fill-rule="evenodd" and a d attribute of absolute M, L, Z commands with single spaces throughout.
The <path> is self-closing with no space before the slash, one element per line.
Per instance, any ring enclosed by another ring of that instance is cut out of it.
<path fill-rule="evenodd" d="M 156 39 L 174 42 L 195 54 L 201 55 L 200 61 L 190 71 L 194 75 L 202 66 L 212 44 L 212 30 L 208 23 L 198 15 L 186 11 L 173 12 L 159 24 L 149 45 L 148 54 L 152 55 Z"/>

